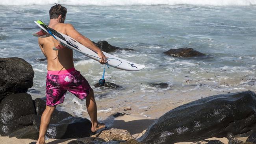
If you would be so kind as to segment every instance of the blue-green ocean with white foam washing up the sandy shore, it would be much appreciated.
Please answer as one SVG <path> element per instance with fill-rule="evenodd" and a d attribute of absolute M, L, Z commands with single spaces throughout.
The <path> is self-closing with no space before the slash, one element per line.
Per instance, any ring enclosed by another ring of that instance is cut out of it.
<path fill-rule="evenodd" d="M 107 68 L 106 81 L 121 88 L 95 88 L 104 65 L 74 52 L 76 69 L 94 89 L 101 120 L 126 108 L 153 119 L 202 97 L 256 90 L 256 0 L 1 0 L 0 57 L 20 57 L 33 66 L 28 90 L 33 99 L 45 96 L 47 73 L 33 21 L 47 24 L 54 2 L 67 7 L 65 22 L 80 33 L 134 49 L 111 54 L 146 65 L 137 72 Z M 182 47 L 206 56 L 163 54 Z M 159 83 L 166 87 L 154 86 Z M 88 118 L 85 100 L 69 92 L 58 109 Z"/>

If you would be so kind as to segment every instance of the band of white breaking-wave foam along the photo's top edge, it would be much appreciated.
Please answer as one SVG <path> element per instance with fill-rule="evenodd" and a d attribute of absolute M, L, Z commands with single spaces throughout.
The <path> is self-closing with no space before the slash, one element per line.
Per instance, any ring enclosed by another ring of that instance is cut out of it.
<path fill-rule="evenodd" d="M 66 4 L 74 6 L 113 6 L 113 5 L 210 5 L 210 6 L 251 6 L 256 5 L 256 0 L 1 0 L 0 5 L 45 5 Z"/>

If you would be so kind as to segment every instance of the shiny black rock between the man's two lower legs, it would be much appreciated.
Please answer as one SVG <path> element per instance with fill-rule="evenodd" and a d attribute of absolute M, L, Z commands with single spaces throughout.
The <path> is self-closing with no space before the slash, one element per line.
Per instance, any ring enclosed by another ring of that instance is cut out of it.
<path fill-rule="evenodd" d="M 70 116 L 57 124 L 50 124 L 46 137 L 56 139 L 83 138 L 90 137 L 92 134 L 91 121 L 86 118 Z"/>

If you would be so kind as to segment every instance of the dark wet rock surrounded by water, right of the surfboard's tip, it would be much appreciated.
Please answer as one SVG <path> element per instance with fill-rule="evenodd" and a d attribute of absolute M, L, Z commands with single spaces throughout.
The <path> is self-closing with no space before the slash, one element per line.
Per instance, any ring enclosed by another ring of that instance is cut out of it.
<path fill-rule="evenodd" d="M 170 49 L 164 54 L 170 55 L 172 57 L 200 57 L 205 56 L 205 54 L 202 54 L 193 48 L 178 48 L 178 49 Z"/>

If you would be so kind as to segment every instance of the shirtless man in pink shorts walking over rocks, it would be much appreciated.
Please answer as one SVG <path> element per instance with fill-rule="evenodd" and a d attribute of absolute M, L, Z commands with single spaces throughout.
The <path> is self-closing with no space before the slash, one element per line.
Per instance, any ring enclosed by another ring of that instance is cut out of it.
<path fill-rule="evenodd" d="M 106 63 L 106 56 L 93 44 L 88 38 L 81 35 L 71 24 L 64 24 L 67 9 L 60 4 L 51 7 L 50 23 L 48 27 L 56 31 L 69 35 L 87 48 L 90 48 L 100 57 L 100 63 Z M 73 51 L 69 48 L 63 48 L 55 51 L 52 48 L 59 45 L 54 37 L 38 39 L 39 47 L 47 59 L 46 76 L 46 108 L 41 117 L 39 138 L 37 144 L 45 144 L 45 134 L 50 123 L 50 117 L 56 108 L 56 105 L 63 103 L 65 94 L 69 90 L 79 99 L 86 99 L 87 112 L 91 118 L 91 131 L 104 128 L 104 124 L 97 121 L 97 107 L 88 81 L 75 70 L 73 63 Z"/>

